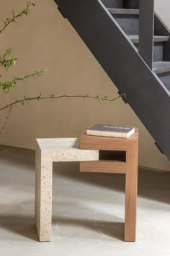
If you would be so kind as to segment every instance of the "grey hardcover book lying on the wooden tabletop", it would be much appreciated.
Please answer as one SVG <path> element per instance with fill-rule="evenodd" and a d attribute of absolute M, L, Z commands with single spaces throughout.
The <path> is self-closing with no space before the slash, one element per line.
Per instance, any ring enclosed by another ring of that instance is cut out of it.
<path fill-rule="evenodd" d="M 123 127 L 110 124 L 95 124 L 87 129 L 86 135 L 128 138 L 135 132 L 135 127 Z"/>

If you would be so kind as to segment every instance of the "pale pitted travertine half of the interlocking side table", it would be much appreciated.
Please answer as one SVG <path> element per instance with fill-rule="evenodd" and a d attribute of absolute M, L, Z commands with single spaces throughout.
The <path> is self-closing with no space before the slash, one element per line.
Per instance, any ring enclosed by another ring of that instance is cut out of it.
<path fill-rule="evenodd" d="M 50 242 L 53 162 L 99 161 L 99 150 L 80 150 L 79 139 L 37 139 L 35 225 L 40 242 Z"/>

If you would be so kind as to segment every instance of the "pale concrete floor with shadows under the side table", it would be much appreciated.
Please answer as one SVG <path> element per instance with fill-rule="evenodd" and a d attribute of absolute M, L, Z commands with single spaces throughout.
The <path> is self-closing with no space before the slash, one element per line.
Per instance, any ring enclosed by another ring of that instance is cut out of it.
<path fill-rule="evenodd" d="M 125 177 L 54 164 L 53 239 L 37 242 L 35 152 L 0 147 L 0 256 L 169 256 L 170 173 L 139 170 L 137 241 L 123 242 Z"/>

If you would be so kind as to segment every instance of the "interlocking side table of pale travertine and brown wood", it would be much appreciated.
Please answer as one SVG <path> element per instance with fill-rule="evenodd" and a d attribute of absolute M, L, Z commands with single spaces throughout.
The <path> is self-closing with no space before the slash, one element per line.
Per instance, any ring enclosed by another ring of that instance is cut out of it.
<path fill-rule="evenodd" d="M 89 136 L 84 132 L 80 141 L 76 138 L 37 140 L 35 225 L 40 242 L 51 239 L 53 162 L 66 161 L 80 161 L 80 171 L 125 174 L 125 241 L 134 242 L 138 129 L 128 139 Z"/>

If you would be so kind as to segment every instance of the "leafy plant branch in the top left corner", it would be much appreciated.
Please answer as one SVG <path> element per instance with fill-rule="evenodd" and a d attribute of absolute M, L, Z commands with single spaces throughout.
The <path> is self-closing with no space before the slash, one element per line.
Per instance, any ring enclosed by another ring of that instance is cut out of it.
<path fill-rule="evenodd" d="M 16 20 L 19 17 L 22 17 L 23 15 L 27 16 L 28 13 L 30 12 L 30 7 L 31 6 L 34 7 L 35 4 L 28 1 L 27 2 L 27 7 L 25 7 L 25 9 L 23 9 L 22 12 L 19 12 L 18 14 L 15 14 L 14 12 L 12 12 L 12 17 L 7 18 L 6 21 L 4 22 L 4 27 L 2 27 L 1 30 L 0 30 L 0 35 L 6 29 L 6 27 L 8 27 L 12 22 L 16 22 Z"/>

